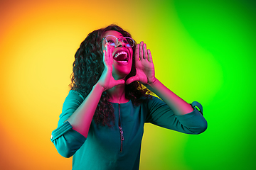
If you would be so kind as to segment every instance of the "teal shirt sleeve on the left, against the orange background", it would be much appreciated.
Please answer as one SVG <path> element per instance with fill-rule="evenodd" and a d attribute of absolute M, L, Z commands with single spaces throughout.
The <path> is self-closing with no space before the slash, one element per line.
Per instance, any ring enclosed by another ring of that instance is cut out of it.
<path fill-rule="evenodd" d="M 70 91 L 63 103 L 58 128 L 53 130 L 50 140 L 55 145 L 58 153 L 63 157 L 71 157 L 85 142 L 86 138 L 73 130 L 67 120 L 80 106 L 84 98 L 76 91 Z"/>

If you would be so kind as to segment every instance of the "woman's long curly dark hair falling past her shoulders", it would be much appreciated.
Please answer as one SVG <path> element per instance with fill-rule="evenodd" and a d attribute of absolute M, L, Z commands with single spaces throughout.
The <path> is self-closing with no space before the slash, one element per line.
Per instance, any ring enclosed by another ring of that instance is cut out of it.
<path fill-rule="evenodd" d="M 94 30 L 87 35 L 84 41 L 80 44 L 75 53 L 75 62 L 73 62 L 73 73 L 71 74 L 71 90 L 78 91 L 83 97 L 86 97 L 92 87 L 97 83 L 102 75 L 103 69 L 103 52 L 102 39 L 103 34 L 107 30 L 115 30 L 121 33 L 124 37 L 132 36 L 117 25 L 110 25 L 106 28 Z M 132 50 L 135 53 L 136 42 Z M 127 75 L 126 79 L 136 74 L 134 56 L 132 57 L 132 70 Z M 146 89 L 138 81 L 125 86 L 125 97 L 132 101 L 134 106 L 138 106 L 146 98 L 150 98 L 151 91 Z M 97 105 L 93 120 L 97 125 L 109 126 L 114 125 L 114 108 L 108 101 L 109 95 L 106 91 L 102 93 L 100 102 Z"/>

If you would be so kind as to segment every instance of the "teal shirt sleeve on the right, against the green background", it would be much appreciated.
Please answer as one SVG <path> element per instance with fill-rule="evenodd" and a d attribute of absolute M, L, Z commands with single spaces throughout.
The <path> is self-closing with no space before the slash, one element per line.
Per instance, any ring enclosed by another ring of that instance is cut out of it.
<path fill-rule="evenodd" d="M 185 115 L 174 115 L 164 101 L 154 96 L 148 100 L 147 105 L 149 113 L 146 116 L 146 123 L 187 134 L 200 134 L 207 128 L 207 121 L 203 118 L 203 108 L 196 101 L 191 104 L 193 111 Z"/>

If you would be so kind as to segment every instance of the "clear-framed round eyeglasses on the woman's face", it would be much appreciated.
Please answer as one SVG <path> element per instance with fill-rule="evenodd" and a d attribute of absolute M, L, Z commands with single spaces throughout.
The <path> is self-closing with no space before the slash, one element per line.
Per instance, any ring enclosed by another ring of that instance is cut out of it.
<path fill-rule="evenodd" d="M 129 37 L 116 38 L 114 35 L 107 35 L 103 38 L 103 40 L 106 40 L 106 42 L 109 42 L 112 46 L 116 46 L 120 39 L 122 39 L 122 42 L 124 42 L 126 47 L 134 47 L 135 42 Z"/>

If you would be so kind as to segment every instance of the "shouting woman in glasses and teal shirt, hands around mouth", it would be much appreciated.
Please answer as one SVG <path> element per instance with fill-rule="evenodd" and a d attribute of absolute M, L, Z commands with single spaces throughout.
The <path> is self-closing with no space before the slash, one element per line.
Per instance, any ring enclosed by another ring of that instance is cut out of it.
<path fill-rule="evenodd" d="M 144 42 L 115 25 L 93 31 L 75 54 L 52 142 L 73 156 L 73 169 L 139 169 L 144 123 L 187 134 L 207 128 L 200 103 L 186 103 L 156 79 Z"/>

